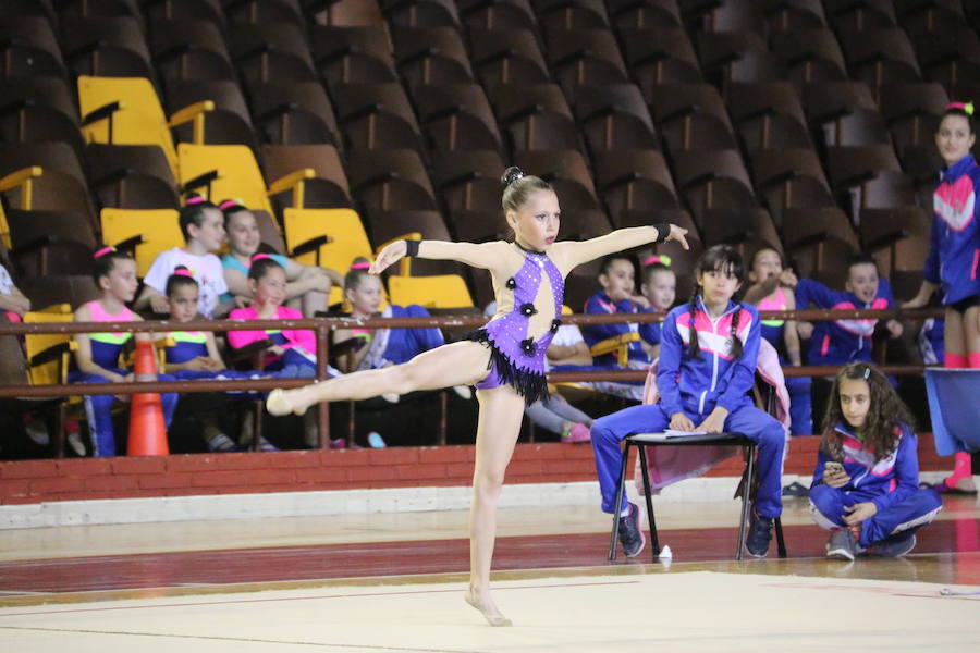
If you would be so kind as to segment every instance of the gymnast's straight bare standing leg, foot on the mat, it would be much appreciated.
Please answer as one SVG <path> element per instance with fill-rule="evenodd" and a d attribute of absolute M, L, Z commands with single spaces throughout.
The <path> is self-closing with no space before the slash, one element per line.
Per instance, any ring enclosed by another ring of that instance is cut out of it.
<path fill-rule="evenodd" d="M 497 538 L 497 504 L 520 432 L 524 399 L 510 385 L 479 390 L 477 399 L 480 417 L 469 508 L 469 590 L 465 599 L 491 626 L 510 626 L 511 620 L 490 597 L 490 563 Z"/>

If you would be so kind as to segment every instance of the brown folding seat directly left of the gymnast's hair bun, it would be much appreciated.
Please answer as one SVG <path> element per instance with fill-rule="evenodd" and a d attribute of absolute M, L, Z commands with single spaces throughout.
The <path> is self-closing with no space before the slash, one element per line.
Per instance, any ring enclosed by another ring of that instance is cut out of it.
<path fill-rule="evenodd" d="M 437 150 L 432 185 L 451 214 L 468 210 L 503 214 L 500 177 L 505 168 L 498 150 Z"/>

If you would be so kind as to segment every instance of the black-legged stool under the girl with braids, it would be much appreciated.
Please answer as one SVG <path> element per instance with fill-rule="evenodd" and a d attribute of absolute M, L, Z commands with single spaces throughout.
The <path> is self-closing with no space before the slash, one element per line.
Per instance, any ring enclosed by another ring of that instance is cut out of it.
<path fill-rule="evenodd" d="M 623 505 L 623 493 L 626 490 L 626 467 L 629 460 L 629 447 L 639 449 L 640 469 L 644 473 L 644 494 L 647 498 L 647 520 L 650 523 L 650 543 L 653 549 L 653 562 L 660 555 L 660 542 L 657 539 L 657 522 L 653 520 L 653 500 L 650 494 L 650 472 L 647 469 L 648 446 L 706 446 L 706 445 L 732 445 L 740 446 L 745 453 L 745 472 L 742 475 L 742 520 L 738 523 L 738 544 L 735 550 L 735 559 L 740 560 L 745 556 L 745 523 L 748 520 L 749 494 L 752 475 L 756 469 L 756 443 L 742 433 L 699 433 L 691 435 L 665 435 L 664 433 L 637 433 L 627 435 L 624 440 L 626 447 L 623 451 L 623 467 L 620 469 L 620 489 L 616 492 L 616 512 L 613 515 L 612 534 L 609 541 L 609 559 L 616 559 L 616 540 L 620 538 L 620 506 Z M 736 491 L 736 496 L 738 492 Z M 773 520 L 776 532 L 776 544 L 780 557 L 786 557 L 786 542 L 783 540 L 783 522 L 776 517 Z"/>

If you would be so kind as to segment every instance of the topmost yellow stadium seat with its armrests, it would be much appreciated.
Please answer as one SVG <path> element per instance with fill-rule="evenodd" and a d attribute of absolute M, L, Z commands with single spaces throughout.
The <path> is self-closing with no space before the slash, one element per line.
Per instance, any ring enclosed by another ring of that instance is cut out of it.
<path fill-rule="evenodd" d="M 143 77 L 78 77 L 78 106 L 86 143 L 158 145 L 179 178 L 177 155 L 170 127 L 194 121 L 194 141 L 204 143 L 205 113 L 210 100 L 185 107 L 170 120 L 149 79 Z"/>

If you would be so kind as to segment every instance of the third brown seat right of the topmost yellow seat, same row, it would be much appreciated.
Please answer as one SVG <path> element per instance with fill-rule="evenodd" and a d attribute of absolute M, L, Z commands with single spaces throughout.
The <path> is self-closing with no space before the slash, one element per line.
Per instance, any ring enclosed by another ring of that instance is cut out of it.
<path fill-rule="evenodd" d="M 401 84 L 338 84 L 333 99 L 345 148 L 424 151 L 415 112 Z"/>

